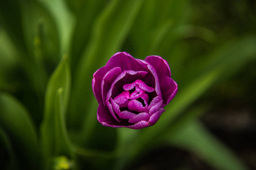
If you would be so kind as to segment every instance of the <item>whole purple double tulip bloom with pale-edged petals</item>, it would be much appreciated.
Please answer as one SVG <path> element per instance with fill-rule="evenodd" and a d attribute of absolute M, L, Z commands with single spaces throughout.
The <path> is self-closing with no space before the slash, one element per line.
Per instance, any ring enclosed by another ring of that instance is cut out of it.
<path fill-rule="evenodd" d="M 177 93 L 168 62 L 159 56 L 135 59 L 118 52 L 93 74 L 97 120 L 113 128 L 152 126 Z"/>

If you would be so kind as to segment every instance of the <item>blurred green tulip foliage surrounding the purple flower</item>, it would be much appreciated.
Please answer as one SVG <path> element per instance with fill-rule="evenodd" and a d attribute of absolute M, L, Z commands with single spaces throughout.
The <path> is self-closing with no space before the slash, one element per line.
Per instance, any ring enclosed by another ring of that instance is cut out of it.
<path fill-rule="evenodd" d="M 255 7 L 249 0 L 0 1 L 1 168 L 128 169 L 167 143 L 214 169 L 247 169 L 201 125 L 212 103 L 196 101 L 253 67 Z M 170 63 L 179 92 L 154 126 L 114 129 L 96 120 L 92 75 L 118 51 Z"/>

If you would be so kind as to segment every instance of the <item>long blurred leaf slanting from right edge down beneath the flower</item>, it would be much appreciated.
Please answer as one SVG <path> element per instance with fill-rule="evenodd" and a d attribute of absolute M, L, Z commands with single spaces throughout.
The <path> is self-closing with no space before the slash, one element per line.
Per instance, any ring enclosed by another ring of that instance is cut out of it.
<path fill-rule="evenodd" d="M 196 99 L 199 99 L 205 91 L 209 90 L 214 83 L 220 81 L 223 76 L 234 73 L 246 62 L 251 61 L 256 56 L 255 46 L 256 38 L 254 36 L 232 40 L 221 46 L 212 54 L 213 56 L 210 56 L 210 58 L 221 62 L 209 62 L 198 76 L 187 83 L 187 86 L 179 88 L 177 95 L 165 107 L 166 112 L 162 114 L 156 125 L 141 130 L 141 133 L 134 137 L 129 151 L 122 156 L 122 160 L 129 160 L 125 158 L 127 155 L 129 155 L 128 158 L 138 155 L 144 148 L 148 147 L 148 141 L 154 140 L 171 126 L 174 120 Z M 122 129 L 119 130 L 119 133 L 122 133 Z M 123 143 L 123 145 L 127 145 L 127 143 Z"/>

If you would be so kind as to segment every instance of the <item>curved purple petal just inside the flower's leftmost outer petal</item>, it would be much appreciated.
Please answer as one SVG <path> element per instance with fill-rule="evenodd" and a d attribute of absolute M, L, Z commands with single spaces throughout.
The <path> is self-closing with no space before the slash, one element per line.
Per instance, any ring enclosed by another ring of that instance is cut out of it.
<path fill-rule="evenodd" d="M 101 95 L 102 95 L 103 104 L 105 106 L 106 106 L 106 94 L 108 93 L 111 87 L 111 84 L 114 82 L 115 78 L 117 78 L 117 76 L 121 73 L 122 73 L 122 70 L 120 67 L 114 67 L 113 69 L 108 71 L 108 73 L 106 73 L 102 78 Z"/>

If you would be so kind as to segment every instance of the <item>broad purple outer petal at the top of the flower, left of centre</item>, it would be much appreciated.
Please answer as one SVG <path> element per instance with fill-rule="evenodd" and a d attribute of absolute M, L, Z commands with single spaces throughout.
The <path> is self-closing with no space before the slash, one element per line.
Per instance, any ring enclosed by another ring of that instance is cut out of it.
<path fill-rule="evenodd" d="M 118 52 L 115 53 L 109 61 L 106 63 L 106 66 L 111 67 L 121 67 L 124 70 L 134 70 L 134 71 L 146 71 L 142 70 L 141 63 L 137 59 L 133 58 L 129 53 Z"/>

